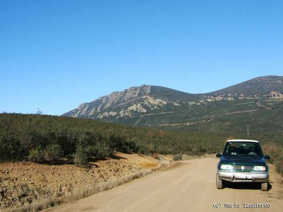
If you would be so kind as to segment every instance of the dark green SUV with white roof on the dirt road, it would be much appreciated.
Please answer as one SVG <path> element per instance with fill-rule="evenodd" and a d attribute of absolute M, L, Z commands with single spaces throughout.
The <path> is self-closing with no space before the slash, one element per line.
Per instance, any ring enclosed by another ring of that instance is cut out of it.
<path fill-rule="evenodd" d="M 216 187 L 223 188 L 223 181 L 229 182 L 258 182 L 261 190 L 268 189 L 268 166 L 266 159 L 269 155 L 262 153 L 258 141 L 228 140 L 222 154 L 217 153 L 220 162 L 217 166 Z"/>

